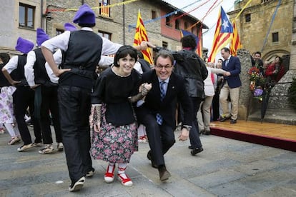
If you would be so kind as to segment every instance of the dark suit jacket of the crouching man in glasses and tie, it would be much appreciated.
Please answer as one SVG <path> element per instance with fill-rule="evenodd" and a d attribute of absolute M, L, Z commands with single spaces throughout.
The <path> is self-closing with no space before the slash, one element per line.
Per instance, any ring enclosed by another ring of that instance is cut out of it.
<path fill-rule="evenodd" d="M 192 104 L 185 89 L 184 79 L 181 76 L 172 73 L 169 77 L 167 93 L 163 101 L 160 101 L 159 81 L 155 70 L 142 74 L 142 83 L 151 83 L 152 89 L 147 94 L 142 106 L 136 108 L 140 122 L 147 114 L 156 116 L 157 113 L 160 113 L 163 122 L 174 130 L 176 128 L 177 102 L 179 102 L 182 103 L 184 108 L 184 122 L 182 124 L 192 126 Z"/>

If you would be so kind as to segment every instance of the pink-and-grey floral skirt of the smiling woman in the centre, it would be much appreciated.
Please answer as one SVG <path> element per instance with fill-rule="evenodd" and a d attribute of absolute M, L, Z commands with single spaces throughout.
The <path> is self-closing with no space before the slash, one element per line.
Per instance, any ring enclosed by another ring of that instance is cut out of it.
<path fill-rule="evenodd" d="M 102 104 L 101 129 L 92 128 L 90 154 L 94 159 L 112 163 L 129 163 L 134 151 L 138 151 L 137 123 L 114 126 L 105 118 L 106 104 Z"/>

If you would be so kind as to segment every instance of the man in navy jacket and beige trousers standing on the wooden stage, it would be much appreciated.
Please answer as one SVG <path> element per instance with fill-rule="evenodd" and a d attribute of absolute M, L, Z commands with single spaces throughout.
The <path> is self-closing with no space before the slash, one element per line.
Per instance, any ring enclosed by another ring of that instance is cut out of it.
<path fill-rule="evenodd" d="M 240 86 L 242 86 L 242 82 L 240 81 L 240 59 L 230 55 L 230 49 L 226 47 L 221 50 L 221 56 L 225 59 L 222 63 L 222 69 L 227 71 L 227 73 L 224 77 L 224 85 L 219 96 L 223 111 L 220 121 L 224 122 L 227 119 L 231 119 L 230 123 L 237 123 Z M 229 94 L 232 106 L 231 113 L 227 101 Z"/>

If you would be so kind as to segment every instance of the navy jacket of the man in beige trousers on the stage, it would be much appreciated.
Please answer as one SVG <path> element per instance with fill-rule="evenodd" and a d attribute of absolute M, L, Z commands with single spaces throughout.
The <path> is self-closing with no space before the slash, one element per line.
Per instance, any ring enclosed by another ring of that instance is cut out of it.
<path fill-rule="evenodd" d="M 224 79 L 227 81 L 228 86 L 231 89 L 242 86 L 240 81 L 240 59 L 236 56 L 230 56 L 230 61 L 225 66 L 226 61 L 222 62 L 222 69 L 230 72 L 230 76 L 225 76 Z"/>

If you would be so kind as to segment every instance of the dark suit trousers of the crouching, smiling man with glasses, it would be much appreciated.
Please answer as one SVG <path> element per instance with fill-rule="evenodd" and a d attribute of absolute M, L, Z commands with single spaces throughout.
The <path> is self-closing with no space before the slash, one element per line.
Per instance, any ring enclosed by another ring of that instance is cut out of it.
<path fill-rule="evenodd" d="M 157 166 L 164 165 L 164 154 L 167 153 L 169 148 L 175 143 L 172 127 L 167 126 L 165 122 L 159 125 L 153 114 L 147 114 L 141 117 L 139 121 L 146 126 L 152 160 Z"/>

